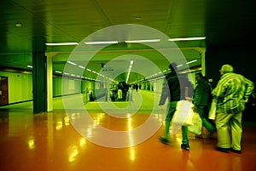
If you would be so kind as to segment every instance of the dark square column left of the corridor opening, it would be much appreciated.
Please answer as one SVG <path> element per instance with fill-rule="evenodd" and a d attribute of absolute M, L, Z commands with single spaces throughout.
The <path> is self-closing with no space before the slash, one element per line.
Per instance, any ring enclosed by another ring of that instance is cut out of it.
<path fill-rule="evenodd" d="M 46 57 L 44 52 L 32 53 L 33 112 L 47 111 Z"/>

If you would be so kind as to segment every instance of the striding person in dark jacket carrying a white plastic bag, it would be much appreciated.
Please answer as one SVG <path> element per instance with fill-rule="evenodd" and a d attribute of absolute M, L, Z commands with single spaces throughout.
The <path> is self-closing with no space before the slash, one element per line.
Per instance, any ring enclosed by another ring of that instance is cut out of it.
<path fill-rule="evenodd" d="M 163 83 L 162 93 L 160 96 L 159 105 L 165 105 L 166 99 L 168 98 L 167 114 L 165 119 L 165 131 L 164 136 L 160 136 L 159 139 L 163 144 L 169 144 L 169 128 L 172 121 L 173 114 L 176 111 L 177 101 L 186 100 L 189 97 L 191 99 L 193 94 L 192 83 L 189 82 L 186 75 L 177 74 L 177 64 L 172 63 L 169 66 L 171 72 L 167 74 L 166 79 Z M 182 126 L 182 145 L 184 150 L 189 151 L 189 138 L 188 138 L 188 127 Z"/>

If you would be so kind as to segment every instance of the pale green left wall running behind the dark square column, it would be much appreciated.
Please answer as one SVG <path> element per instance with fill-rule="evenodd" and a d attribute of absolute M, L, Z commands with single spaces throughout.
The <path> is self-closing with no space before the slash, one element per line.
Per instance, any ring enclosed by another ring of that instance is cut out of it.
<path fill-rule="evenodd" d="M 9 104 L 32 100 L 32 74 L 0 71 L 0 76 L 8 77 Z M 62 85 L 63 80 L 63 87 Z M 53 77 L 53 97 L 63 94 L 86 94 L 95 86 L 94 82 L 61 77 Z M 61 89 L 63 88 L 63 90 Z"/>

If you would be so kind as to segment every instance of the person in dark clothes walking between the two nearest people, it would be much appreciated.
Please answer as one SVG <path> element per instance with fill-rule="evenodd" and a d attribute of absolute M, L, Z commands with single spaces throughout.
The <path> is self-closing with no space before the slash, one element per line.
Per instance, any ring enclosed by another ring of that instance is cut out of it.
<path fill-rule="evenodd" d="M 208 106 L 211 105 L 212 89 L 207 80 L 204 79 L 201 72 L 195 74 L 197 85 L 194 90 L 192 103 L 195 105 L 194 110 L 198 112 L 201 117 L 202 126 L 207 128 L 209 132 L 208 137 L 212 137 L 215 128 L 208 121 Z"/>

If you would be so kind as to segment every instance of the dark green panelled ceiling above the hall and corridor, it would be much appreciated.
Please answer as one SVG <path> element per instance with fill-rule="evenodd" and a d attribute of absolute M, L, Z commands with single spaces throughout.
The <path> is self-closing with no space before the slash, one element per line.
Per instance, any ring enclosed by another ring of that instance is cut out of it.
<path fill-rule="evenodd" d="M 197 60 L 189 64 L 190 68 L 200 67 L 201 53 L 207 47 L 253 43 L 247 38 L 255 37 L 255 7 L 252 0 L 3 0 L 0 66 L 29 70 L 32 52 L 44 51 L 53 59 L 54 73 L 63 74 L 67 60 L 72 59 L 77 66 L 114 79 L 119 77 L 117 80 L 121 81 L 127 77 L 133 60 L 131 71 L 139 77 L 131 82 L 165 70 L 173 57 L 166 60 L 161 52 L 179 52 L 185 61 Z M 166 37 L 206 39 L 168 43 Z M 160 39 L 160 43 L 125 43 L 142 39 Z M 119 43 L 106 47 L 84 45 L 109 40 Z M 173 61 L 184 62 L 179 58 Z M 79 71 L 74 75 L 79 75 Z M 83 75 L 94 77 L 95 73 L 84 69 Z"/>

